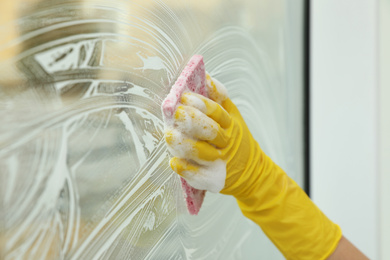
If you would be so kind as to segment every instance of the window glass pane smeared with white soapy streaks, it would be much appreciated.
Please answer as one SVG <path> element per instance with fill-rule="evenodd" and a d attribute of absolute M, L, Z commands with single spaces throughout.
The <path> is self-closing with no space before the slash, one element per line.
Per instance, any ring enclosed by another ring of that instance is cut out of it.
<path fill-rule="evenodd" d="M 203 55 L 262 148 L 302 183 L 303 91 L 288 76 L 301 65 L 286 47 L 301 28 L 288 1 L 0 8 L 1 259 L 282 259 L 233 198 L 208 193 L 188 215 L 160 106 Z"/>

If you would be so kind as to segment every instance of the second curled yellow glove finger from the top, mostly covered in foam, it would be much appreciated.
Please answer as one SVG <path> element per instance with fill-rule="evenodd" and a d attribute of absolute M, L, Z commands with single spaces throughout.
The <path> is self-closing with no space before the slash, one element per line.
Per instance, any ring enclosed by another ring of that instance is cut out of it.
<path fill-rule="evenodd" d="M 228 137 L 217 122 L 191 106 L 178 106 L 175 111 L 176 128 L 195 140 L 208 141 L 219 148 L 225 148 Z"/>

